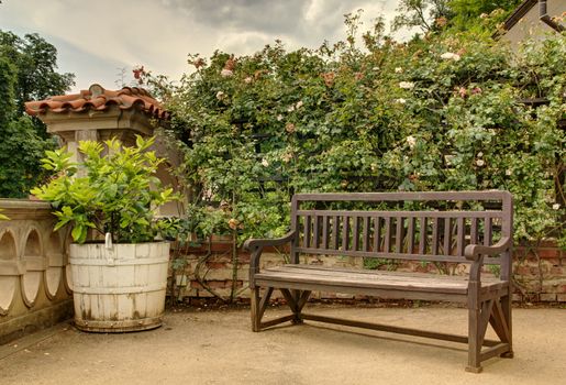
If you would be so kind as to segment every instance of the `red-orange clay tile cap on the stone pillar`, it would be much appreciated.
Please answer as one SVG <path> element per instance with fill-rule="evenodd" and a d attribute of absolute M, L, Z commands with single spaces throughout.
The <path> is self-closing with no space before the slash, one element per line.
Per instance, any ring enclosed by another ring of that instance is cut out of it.
<path fill-rule="evenodd" d="M 25 112 L 38 116 L 47 111 L 55 113 L 81 112 L 87 110 L 106 111 L 110 106 L 118 106 L 122 110 L 138 108 L 146 114 L 156 119 L 168 119 L 169 113 L 143 88 L 124 87 L 118 91 L 92 85 L 80 94 L 49 97 L 45 100 L 29 101 Z"/>

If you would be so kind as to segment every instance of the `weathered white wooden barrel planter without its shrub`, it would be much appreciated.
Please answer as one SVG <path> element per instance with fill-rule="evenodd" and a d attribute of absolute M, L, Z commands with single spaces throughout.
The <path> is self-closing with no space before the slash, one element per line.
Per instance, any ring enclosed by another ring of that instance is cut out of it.
<path fill-rule="evenodd" d="M 75 244 L 69 249 L 75 324 L 95 332 L 162 324 L 169 243 Z"/>

